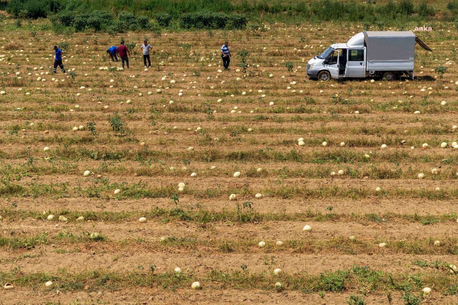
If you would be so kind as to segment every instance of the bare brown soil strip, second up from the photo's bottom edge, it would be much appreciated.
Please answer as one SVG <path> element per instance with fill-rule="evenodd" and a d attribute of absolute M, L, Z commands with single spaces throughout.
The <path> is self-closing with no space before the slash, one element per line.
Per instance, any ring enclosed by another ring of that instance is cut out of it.
<path fill-rule="evenodd" d="M 73 250 L 78 252 L 72 252 Z M 203 249 L 202 249 L 203 250 Z M 280 268 L 286 273 L 307 272 L 319 275 L 322 272 L 347 270 L 354 265 L 368 266 L 373 270 L 402 273 L 431 272 L 434 268 L 419 266 L 418 261 L 434 264 L 439 262 L 440 272 L 447 274 L 447 264 L 458 264 L 454 255 L 409 255 L 378 252 L 356 255 L 336 255 L 331 253 L 214 253 L 207 251 L 145 251 L 133 245 L 124 249 L 112 249 L 97 245 L 44 245 L 30 251 L 0 250 L 0 271 L 9 272 L 21 268 L 22 272 L 84 272 L 97 269 L 111 272 L 132 272 L 138 266 L 156 266 L 156 273 L 173 272 L 175 267 L 183 271 L 203 273 L 212 269 L 224 272 L 241 270 L 245 265 L 251 272 L 273 272 Z"/>

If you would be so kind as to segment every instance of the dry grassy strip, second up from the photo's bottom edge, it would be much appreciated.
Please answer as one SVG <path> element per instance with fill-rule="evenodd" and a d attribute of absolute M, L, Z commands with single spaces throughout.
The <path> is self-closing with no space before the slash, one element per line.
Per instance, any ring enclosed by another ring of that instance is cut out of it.
<path fill-rule="evenodd" d="M 31 237 L 0 237 L 0 247 L 6 249 L 32 249 L 40 245 L 53 244 L 56 247 L 65 246 L 56 250 L 58 253 L 80 252 L 82 245 L 86 250 L 94 251 L 119 252 L 128 249 L 132 251 L 152 251 L 168 253 L 199 253 L 202 249 L 211 253 L 277 253 L 277 254 L 304 254 L 304 253 L 333 253 L 333 254 L 412 254 L 412 255 L 456 255 L 458 254 L 458 238 L 443 237 L 440 238 L 441 244 L 434 245 L 436 239 L 425 238 L 416 240 L 349 240 L 347 236 L 335 237 L 330 240 L 318 240 L 312 234 L 304 236 L 302 239 L 282 240 L 283 245 L 276 245 L 276 240 L 264 240 L 266 246 L 259 248 L 260 240 L 247 240 L 244 238 L 232 240 L 198 240 L 194 237 L 164 237 L 159 241 L 136 238 L 125 240 L 109 240 L 103 235 L 103 232 L 82 232 L 73 234 L 69 231 L 59 232 L 55 236 L 49 236 L 44 232 Z M 385 242 L 387 245 L 379 247 L 379 243 Z M 69 250 L 73 245 L 74 249 Z"/>

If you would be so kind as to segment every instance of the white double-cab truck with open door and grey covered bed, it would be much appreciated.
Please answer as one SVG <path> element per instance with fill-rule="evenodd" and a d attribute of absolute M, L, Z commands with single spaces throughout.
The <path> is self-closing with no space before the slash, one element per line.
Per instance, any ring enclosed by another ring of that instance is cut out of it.
<path fill-rule="evenodd" d="M 414 78 L 415 44 L 432 51 L 412 31 L 365 31 L 346 44 L 333 44 L 307 63 L 307 75 L 322 81 L 375 76 L 387 81 Z"/>

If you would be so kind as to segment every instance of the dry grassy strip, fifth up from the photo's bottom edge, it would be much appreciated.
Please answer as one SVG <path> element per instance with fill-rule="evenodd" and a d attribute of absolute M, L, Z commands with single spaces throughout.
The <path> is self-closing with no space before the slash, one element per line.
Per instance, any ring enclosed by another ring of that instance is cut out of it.
<path fill-rule="evenodd" d="M 372 161 L 372 160 L 371 160 Z M 454 162 L 452 160 L 452 162 Z M 81 175 L 83 170 L 78 168 L 76 163 L 66 162 L 53 162 L 51 165 L 47 165 L 47 161 L 36 161 L 29 159 L 27 163 L 22 163 L 20 166 L 11 166 L 10 164 L 0 167 L 0 174 L 14 177 L 15 180 L 19 181 L 23 176 L 33 177 L 35 174 L 76 174 Z M 95 164 L 94 164 L 95 163 Z M 443 160 L 443 163 L 446 163 Z M 49 164 L 49 163 L 48 163 Z M 136 162 L 130 164 L 119 164 L 108 165 L 104 161 L 93 162 L 93 168 L 85 167 L 97 174 L 109 174 L 110 176 L 145 176 L 145 177 L 183 177 L 183 175 L 190 175 L 191 173 L 199 173 L 199 177 L 223 177 L 231 178 L 234 174 L 234 168 L 221 167 L 212 170 L 208 170 L 209 165 L 199 164 L 196 166 L 188 165 L 188 168 L 183 169 L 170 169 L 164 162 Z M 458 179 L 456 167 L 445 167 L 438 174 L 429 174 L 429 169 L 426 171 L 425 167 L 431 169 L 437 167 L 436 163 L 422 164 L 419 168 L 416 168 L 418 164 L 412 163 L 403 165 L 403 168 L 396 166 L 396 164 L 382 163 L 352 163 L 352 164 L 307 164 L 305 167 L 300 168 L 289 168 L 284 166 L 281 169 L 264 169 L 261 172 L 257 171 L 257 167 L 246 167 L 236 168 L 244 177 L 249 178 L 277 178 L 277 179 L 290 179 L 290 178 L 308 178 L 308 179 L 322 179 L 331 178 L 332 172 L 337 172 L 339 169 L 344 169 L 344 174 L 334 176 L 334 179 L 338 178 L 356 178 L 364 179 L 365 177 L 374 180 L 382 179 L 417 179 L 417 175 L 420 172 L 425 174 L 424 180 L 455 180 Z M 175 165 L 176 166 L 176 165 Z M 197 167 L 199 166 L 199 167 Z M 293 165 L 294 166 L 294 165 Z"/>

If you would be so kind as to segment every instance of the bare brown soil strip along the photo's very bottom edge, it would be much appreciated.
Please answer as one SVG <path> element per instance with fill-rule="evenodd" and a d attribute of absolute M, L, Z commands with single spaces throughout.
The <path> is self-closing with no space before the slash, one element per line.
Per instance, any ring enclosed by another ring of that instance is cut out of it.
<path fill-rule="evenodd" d="M 46 304 L 46 302 L 60 301 L 61 304 L 68 304 L 78 300 L 81 304 L 85 302 L 107 302 L 108 304 L 199 304 L 199 305 L 227 305 L 227 304 L 284 304 L 296 305 L 300 303 L 307 304 L 331 304 L 342 305 L 346 303 L 346 299 L 350 294 L 356 292 L 346 293 L 324 293 L 323 297 L 319 294 L 303 294 L 299 291 L 275 292 L 264 290 L 235 290 L 235 289 L 203 289 L 201 291 L 191 289 L 179 289 L 174 291 L 164 291 L 162 289 L 151 288 L 133 288 L 133 289 L 120 289 L 118 291 L 103 291 L 103 292 L 68 292 L 56 294 L 55 290 L 41 291 L 32 289 L 13 289 L 3 291 L 3 302 L 5 305 L 28 305 L 28 304 Z M 401 299 L 399 293 L 392 293 L 392 305 L 403 305 L 404 301 Z M 387 303 L 386 294 L 369 294 L 364 297 L 367 305 L 379 305 L 381 302 Z M 431 294 L 427 301 L 442 305 L 442 304 L 455 304 L 458 298 L 453 295 L 447 297 L 441 294 Z"/>

